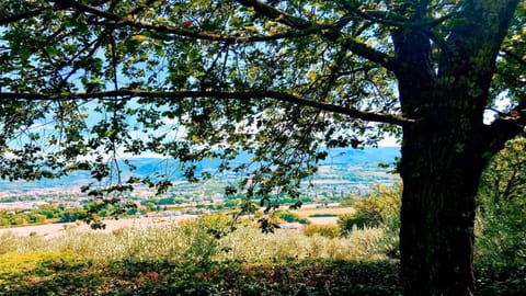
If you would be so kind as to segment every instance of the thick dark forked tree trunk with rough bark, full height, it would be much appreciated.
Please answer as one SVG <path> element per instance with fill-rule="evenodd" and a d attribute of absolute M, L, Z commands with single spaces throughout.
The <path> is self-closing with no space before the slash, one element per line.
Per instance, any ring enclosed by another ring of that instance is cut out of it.
<path fill-rule="evenodd" d="M 483 124 L 494 61 L 517 3 L 466 1 L 438 65 L 431 64 L 428 32 L 392 33 L 402 111 L 418 121 L 403 127 L 401 149 L 404 295 L 474 293 L 479 179 L 490 157 L 519 133 L 495 137 Z"/>

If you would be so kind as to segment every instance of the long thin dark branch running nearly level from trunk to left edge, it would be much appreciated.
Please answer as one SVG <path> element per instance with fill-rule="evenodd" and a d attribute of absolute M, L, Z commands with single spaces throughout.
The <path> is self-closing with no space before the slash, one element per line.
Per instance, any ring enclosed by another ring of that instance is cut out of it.
<path fill-rule="evenodd" d="M 217 98 L 217 99 L 232 99 L 232 100 L 251 100 L 251 99 L 274 99 L 281 102 L 287 102 L 296 105 L 304 105 L 318 109 L 325 112 L 347 115 L 352 118 L 363 119 L 368 122 L 386 123 L 393 125 L 407 125 L 415 122 L 414 119 L 404 118 L 393 114 L 382 114 L 375 112 L 366 112 L 356 109 L 344 107 L 335 104 L 328 104 L 309 100 L 304 96 L 276 91 L 240 91 L 240 92 L 225 92 L 225 91 L 180 91 L 180 92 L 162 92 L 162 91 L 145 91 L 145 90 L 115 90 L 105 92 L 78 92 L 69 94 L 38 94 L 38 93 L 16 93 L 16 92 L 0 92 L 0 100 L 19 99 L 19 100 L 88 100 L 88 99 L 107 99 L 115 100 L 116 96 L 122 100 L 132 98 L 150 98 L 150 99 L 170 99 L 182 100 L 185 98 Z"/>

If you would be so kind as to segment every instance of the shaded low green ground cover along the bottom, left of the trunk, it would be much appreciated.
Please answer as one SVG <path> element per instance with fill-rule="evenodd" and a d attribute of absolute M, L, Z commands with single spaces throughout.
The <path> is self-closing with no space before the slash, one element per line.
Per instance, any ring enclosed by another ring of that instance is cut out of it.
<path fill-rule="evenodd" d="M 390 261 L 232 261 L 196 266 L 75 260 L 33 255 L 23 274 L 11 273 L 0 282 L 0 295 L 400 295 L 398 265 Z"/>

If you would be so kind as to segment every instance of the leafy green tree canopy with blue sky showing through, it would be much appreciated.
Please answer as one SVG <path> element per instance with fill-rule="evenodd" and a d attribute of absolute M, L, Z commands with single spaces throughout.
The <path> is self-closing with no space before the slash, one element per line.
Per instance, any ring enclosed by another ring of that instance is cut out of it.
<path fill-rule="evenodd" d="M 227 169 L 245 150 L 276 166 L 238 170 L 287 180 L 278 185 L 293 193 L 323 148 L 375 144 L 418 119 L 400 110 L 390 34 L 424 31 L 439 71 L 470 1 L 410 2 L 4 1 L 2 177 L 91 169 L 101 179 L 118 170 L 104 166 L 117 153 L 145 151 L 220 157 Z M 503 93 L 524 101 L 523 14 L 499 52 L 488 109 Z"/>

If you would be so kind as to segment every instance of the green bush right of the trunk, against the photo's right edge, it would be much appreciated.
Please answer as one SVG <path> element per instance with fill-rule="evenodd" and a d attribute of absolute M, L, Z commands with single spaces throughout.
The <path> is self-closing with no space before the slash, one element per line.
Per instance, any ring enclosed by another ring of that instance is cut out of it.
<path fill-rule="evenodd" d="M 512 270 L 526 265 L 526 139 L 506 144 L 482 174 L 476 263 Z"/>

